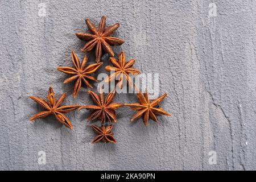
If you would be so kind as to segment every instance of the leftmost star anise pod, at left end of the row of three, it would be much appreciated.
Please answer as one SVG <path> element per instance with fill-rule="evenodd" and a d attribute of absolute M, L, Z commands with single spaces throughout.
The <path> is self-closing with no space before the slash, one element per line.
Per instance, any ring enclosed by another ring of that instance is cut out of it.
<path fill-rule="evenodd" d="M 44 107 L 44 109 L 46 109 L 46 111 L 41 111 L 33 115 L 30 118 L 30 121 L 34 119 L 46 117 L 49 114 L 53 114 L 55 115 L 55 117 L 59 122 L 63 123 L 63 125 L 67 126 L 69 129 L 73 129 L 70 121 L 63 113 L 69 113 L 70 111 L 77 109 L 79 105 L 60 106 L 60 104 L 64 101 L 65 97 L 66 97 L 66 93 L 63 93 L 60 96 L 59 100 L 57 100 L 56 102 L 54 92 L 51 86 L 49 87 L 49 90 L 48 90 L 47 101 L 44 101 L 42 98 L 39 98 L 39 97 L 30 96 L 32 100 L 38 102 L 39 105 L 41 105 L 42 107 Z"/>

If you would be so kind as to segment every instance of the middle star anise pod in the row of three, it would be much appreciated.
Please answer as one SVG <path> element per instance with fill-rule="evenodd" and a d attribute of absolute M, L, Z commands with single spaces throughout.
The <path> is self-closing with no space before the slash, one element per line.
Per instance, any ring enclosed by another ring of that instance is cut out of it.
<path fill-rule="evenodd" d="M 105 123 L 106 119 L 108 119 L 110 123 L 112 122 L 112 120 L 114 122 L 117 122 L 117 114 L 115 113 L 115 109 L 123 106 L 123 104 L 115 102 L 112 103 L 115 96 L 115 90 L 113 90 L 106 96 L 105 101 L 102 90 L 98 96 L 93 91 L 89 91 L 88 94 L 90 95 L 90 97 L 92 97 L 92 100 L 95 102 L 96 105 L 84 105 L 79 107 L 79 110 L 83 108 L 92 110 L 88 121 L 98 118 L 100 119 L 101 123 Z"/>

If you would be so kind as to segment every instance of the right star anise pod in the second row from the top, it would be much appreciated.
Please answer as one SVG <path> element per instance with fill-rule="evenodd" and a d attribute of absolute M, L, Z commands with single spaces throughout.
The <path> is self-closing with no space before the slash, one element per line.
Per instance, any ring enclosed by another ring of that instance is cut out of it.
<path fill-rule="evenodd" d="M 125 63 L 125 52 L 121 52 L 118 55 L 118 61 L 114 57 L 110 57 L 109 59 L 111 63 L 113 64 L 113 67 L 111 66 L 106 66 L 105 69 L 106 71 L 109 72 L 114 72 L 110 76 L 106 78 L 106 82 L 112 81 L 115 78 L 119 78 L 118 81 L 118 86 L 119 88 L 122 88 L 123 86 L 123 80 L 126 80 L 126 83 L 128 83 L 130 86 L 132 85 L 131 78 L 129 74 L 135 75 L 141 73 L 138 69 L 131 68 L 133 64 L 135 63 L 134 59 L 131 59 L 127 63 Z M 125 77 L 125 78 L 123 78 Z"/>

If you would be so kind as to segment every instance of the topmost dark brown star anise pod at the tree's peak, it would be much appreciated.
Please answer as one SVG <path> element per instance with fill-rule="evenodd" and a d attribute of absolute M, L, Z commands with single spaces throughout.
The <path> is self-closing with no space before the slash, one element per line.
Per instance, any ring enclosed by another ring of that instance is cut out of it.
<path fill-rule="evenodd" d="M 110 56 L 114 56 L 114 52 L 112 50 L 111 46 L 120 46 L 125 41 L 122 39 L 114 38 L 110 36 L 114 33 L 115 30 L 119 27 L 119 23 L 115 23 L 112 26 L 109 26 L 108 28 L 105 28 L 106 26 L 106 17 L 102 16 L 101 22 L 97 28 L 94 26 L 92 22 L 87 18 L 85 19 L 85 23 L 87 24 L 89 30 L 92 32 L 92 34 L 88 33 L 76 33 L 76 36 L 81 40 L 86 40 L 88 43 L 85 44 L 85 46 L 81 49 L 82 52 L 89 52 L 91 51 L 95 46 L 95 57 L 96 62 L 100 62 L 101 56 L 102 56 L 102 48 L 105 52 L 107 52 Z"/>

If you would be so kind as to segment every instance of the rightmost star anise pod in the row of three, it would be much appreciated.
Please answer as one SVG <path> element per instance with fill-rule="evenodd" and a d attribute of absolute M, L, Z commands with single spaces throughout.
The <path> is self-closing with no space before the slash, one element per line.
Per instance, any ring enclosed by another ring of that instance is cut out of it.
<path fill-rule="evenodd" d="M 131 121 L 141 117 L 143 115 L 143 122 L 147 126 L 148 119 L 151 118 L 153 121 L 158 122 L 156 115 L 171 115 L 167 111 L 163 110 L 162 107 L 158 107 L 158 104 L 166 97 L 167 94 L 164 93 L 162 96 L 156 98 L 153 101 L 148 99 L 147 92 L 142 94 L 141 92 L 137 93 L 137 98 L 139 103 L 134 104 L 125 104 L 125 106 L 131 107 L 131 109 L 137 110 L 137 112 L 131 118 Z"/>

